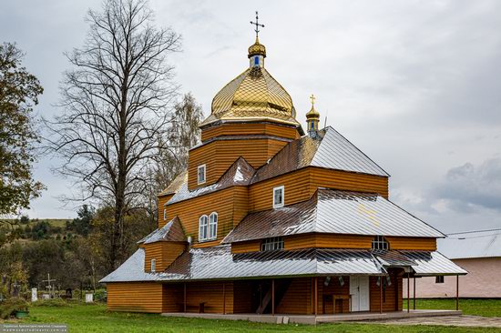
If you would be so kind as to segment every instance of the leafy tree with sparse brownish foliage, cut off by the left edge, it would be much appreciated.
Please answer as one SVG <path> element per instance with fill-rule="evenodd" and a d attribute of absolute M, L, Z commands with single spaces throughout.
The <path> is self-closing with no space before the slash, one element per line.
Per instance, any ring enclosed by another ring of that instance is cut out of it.
<path fill-rule="evenodd" d="M 14 44 L 0 45 L 0 216 L 29 207 L 43 189 L 32 168 L 33 146 L 39 140 L 33 107 L 44 89 L 22 66 L 22 58 Z"/>

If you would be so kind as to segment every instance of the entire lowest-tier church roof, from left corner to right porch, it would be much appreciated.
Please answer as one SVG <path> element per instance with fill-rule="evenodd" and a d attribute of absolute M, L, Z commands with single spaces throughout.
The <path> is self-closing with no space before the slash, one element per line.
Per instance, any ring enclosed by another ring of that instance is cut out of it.
<path fill-rule="evenodd" d="M 391 262 L 389 258 L 393 258 Z M 231 254 L 230 246 L 202 247 L 183 253 L 161 273 L 145 273 L 144 260 L 144 249 L 140 248 L 100 282 L 385 275 L 384 267 L 409 265 L 418 276 L 466 274 L 438 252 L 424 251 L 387 251 L 374 257 L 370 250 L 355 249 L 309 248 Z"/>

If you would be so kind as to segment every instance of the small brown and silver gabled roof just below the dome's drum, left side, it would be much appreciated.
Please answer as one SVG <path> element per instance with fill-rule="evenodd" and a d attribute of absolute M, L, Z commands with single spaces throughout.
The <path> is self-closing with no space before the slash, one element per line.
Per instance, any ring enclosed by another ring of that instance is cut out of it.
<path fill-rule="evenodd" d="M 174 197 L 170 198 L 166 205 L 188 200 L 193 197 L 203 196 L 227 187 L 249 185 L 254 173 L 254 168 L 245 160 L 245 158 L 240 156 L 220 177 L 220 180 L 210 186 L 199 187 L 190 191 L 188 189 L 188 178 L 186 178 L 184 183 L 179 187 L 177 193 Z"/>

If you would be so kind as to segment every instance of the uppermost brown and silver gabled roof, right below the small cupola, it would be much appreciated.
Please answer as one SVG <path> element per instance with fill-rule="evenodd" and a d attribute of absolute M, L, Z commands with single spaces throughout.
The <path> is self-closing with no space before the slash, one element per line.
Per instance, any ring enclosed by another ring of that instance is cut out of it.
<path fill-rule="evenodd" d="M 302 136 L 284 146 L 270 162 L 256 172 L 252 183 L 286 174 L 305 166 L 389 177 L 382 167 L 331 126 L 316 136 Z"/>

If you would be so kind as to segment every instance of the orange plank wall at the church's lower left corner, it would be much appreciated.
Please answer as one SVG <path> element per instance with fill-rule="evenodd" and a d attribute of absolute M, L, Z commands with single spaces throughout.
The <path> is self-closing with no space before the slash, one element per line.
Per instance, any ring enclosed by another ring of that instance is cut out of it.
<path fill-rule="evenodd" d="M 107 284 L 107 308 L 111 311 L 161 313 L 163 286 L 155 282 Z"/>

